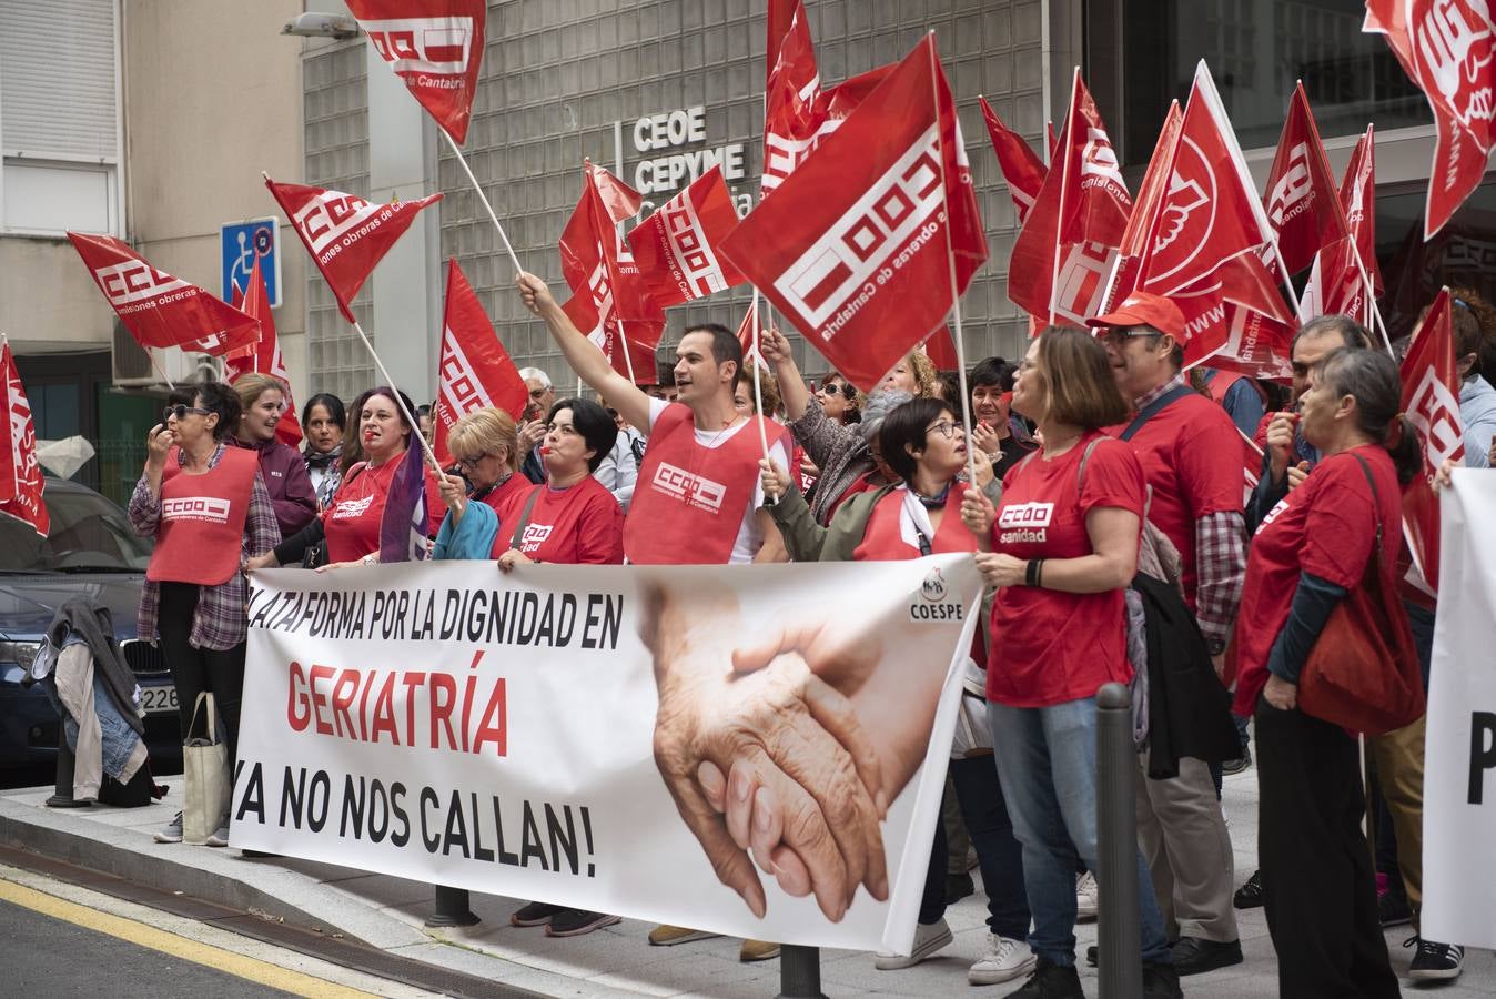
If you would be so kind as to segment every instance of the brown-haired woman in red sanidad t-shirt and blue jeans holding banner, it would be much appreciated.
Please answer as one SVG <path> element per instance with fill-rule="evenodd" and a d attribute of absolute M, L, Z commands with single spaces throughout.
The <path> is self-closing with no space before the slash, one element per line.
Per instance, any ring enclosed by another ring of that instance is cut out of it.
<path fill-rule="evenodd" d="M 1013 408 L 1038 423 L 1044 447 L 1008 470 L 996 511 L 968 492 L 962 519 L 989 549 L 977 565 L 998 588 L 987 719 L 1023 845 L 1034 975 L 1044 995 L 1080 995 L 1077 852 L 1098 869 L 1095 694 L 1132 676 L 1122 591 L 1137 568 L 1143 470 L 1128 444 L 1101 434 L 1128 405 L 1085 331 L 1049 329 L 1029 345 Z M 1141 854 L 1137 864 L 1138 884 L 1150 884 Z M 1144 989 L 1177 995 L 1158 902 L 1147 890 L 1138 902 Z"/>

